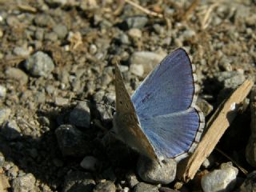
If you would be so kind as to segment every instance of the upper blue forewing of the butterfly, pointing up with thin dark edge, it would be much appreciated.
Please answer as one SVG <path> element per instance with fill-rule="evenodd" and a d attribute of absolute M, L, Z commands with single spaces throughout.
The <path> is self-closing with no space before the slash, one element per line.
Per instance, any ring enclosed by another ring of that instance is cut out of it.
<path fill-rule="evenodd" d="M 169 54 L 132 95 L 138 117 L 186 110 L 194 102 L 194 78 L 185 50 Z"/>

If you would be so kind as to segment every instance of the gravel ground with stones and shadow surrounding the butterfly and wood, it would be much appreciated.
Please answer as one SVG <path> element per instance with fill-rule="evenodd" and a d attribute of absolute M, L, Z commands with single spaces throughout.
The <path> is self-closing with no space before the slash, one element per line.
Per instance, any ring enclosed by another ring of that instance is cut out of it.
<path fill-rule="evenodd" d="M 166 54 L 186 49 L 206 120 L 246 78 L 255 81 L 256 2 L 134 2 L 0 1 L 0 190 L 256 190 L 253 105 L 218 144 L 247 176 L 214 151 L 181 186 L 175 162 L 163 172 L 144 167 L 110 131 L 116 58 L 132 94 Z"/>

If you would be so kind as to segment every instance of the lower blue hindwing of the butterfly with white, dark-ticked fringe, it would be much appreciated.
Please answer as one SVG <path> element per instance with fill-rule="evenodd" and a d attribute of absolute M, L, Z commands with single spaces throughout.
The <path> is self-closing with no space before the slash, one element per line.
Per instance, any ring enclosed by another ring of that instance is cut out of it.
<path fill-rule="evenodd" d="M 202 134 L 200 117 L 194 108 L 173 114 L 141 118 L 140 123 L 150 138 L 158 157 L 183 158 L 194 150 Z"/>

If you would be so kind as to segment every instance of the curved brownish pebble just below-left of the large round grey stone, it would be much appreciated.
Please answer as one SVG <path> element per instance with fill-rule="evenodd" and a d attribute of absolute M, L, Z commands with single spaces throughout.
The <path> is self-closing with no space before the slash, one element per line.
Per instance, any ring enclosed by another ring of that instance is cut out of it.
<path fill-rule="evenodd" d="M 27 75 L 20 69 L 15 67 L 9 67 L 6 70 L 6 78 L 11 78 L 20 83 L 20 85 L 25 85 L 28 82 Z"/>

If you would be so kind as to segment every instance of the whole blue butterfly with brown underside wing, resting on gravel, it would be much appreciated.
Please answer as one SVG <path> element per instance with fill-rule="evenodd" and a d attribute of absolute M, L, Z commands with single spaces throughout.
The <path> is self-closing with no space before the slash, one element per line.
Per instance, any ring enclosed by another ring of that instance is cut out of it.
<path fill-rule="evenodd" d="M 185 50 L 167 55 L 130 97 L 115 66 L 114 131 L 148 158 L 180 161 L 193 153 L 205 125 L 196 106 L 194 66 Z"/>

